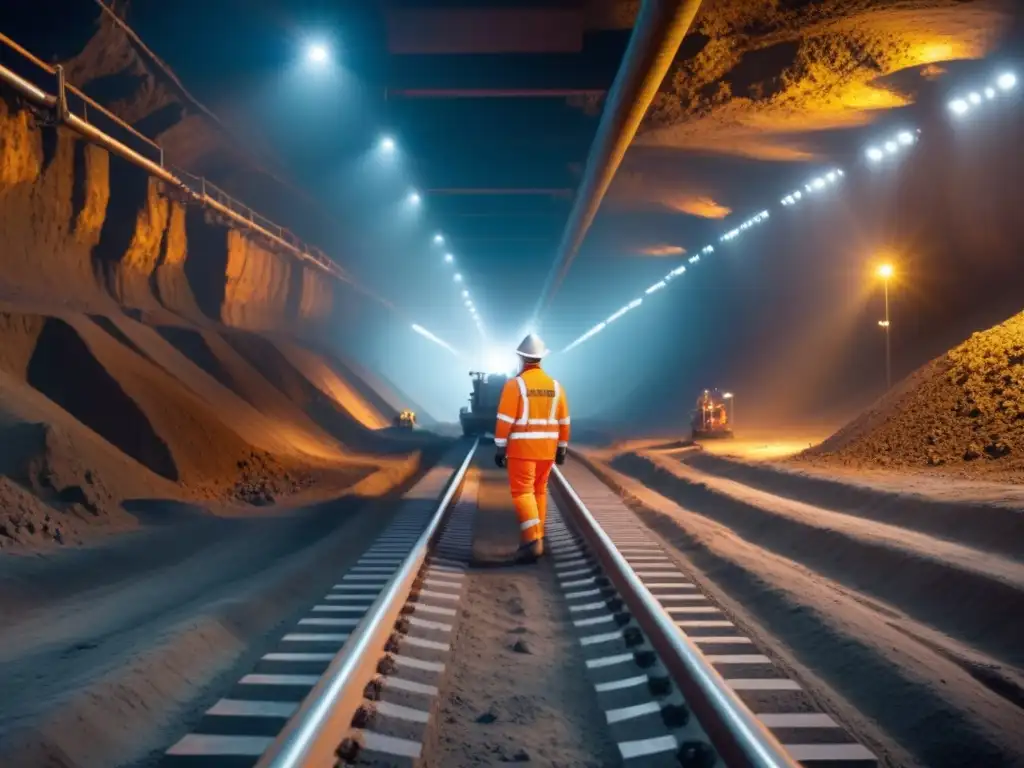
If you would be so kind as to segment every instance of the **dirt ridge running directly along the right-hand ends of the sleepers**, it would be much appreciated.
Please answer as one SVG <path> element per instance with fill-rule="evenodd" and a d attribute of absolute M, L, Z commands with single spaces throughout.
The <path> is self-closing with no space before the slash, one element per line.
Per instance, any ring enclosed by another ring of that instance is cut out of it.
<path fill-rule="evenodd" d="M 1024 766 L 1024 707 L 1011 670 L 708 509 L 595 466 L 701 589 L 884 765 Z"/>

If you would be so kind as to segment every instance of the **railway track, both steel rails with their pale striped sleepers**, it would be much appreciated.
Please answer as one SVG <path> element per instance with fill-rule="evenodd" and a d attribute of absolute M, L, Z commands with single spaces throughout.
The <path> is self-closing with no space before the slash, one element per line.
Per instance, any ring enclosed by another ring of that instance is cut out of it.
<path fill-rule="evenodd" d="M 473 621 L 467 585 L 479 572 L 469 473 L 478 444 L 458 450 L 461 461 L 441 463 L 458 469 L 409 492 L 362 557 L 162 767 L 447 765 L 425 745 L 449 722 L 438 700 L 460 664 L 454 638 Z M 586 467 L 570 461 L 552 484 L 544 567 L 617 760 L 877 765 Z"/>

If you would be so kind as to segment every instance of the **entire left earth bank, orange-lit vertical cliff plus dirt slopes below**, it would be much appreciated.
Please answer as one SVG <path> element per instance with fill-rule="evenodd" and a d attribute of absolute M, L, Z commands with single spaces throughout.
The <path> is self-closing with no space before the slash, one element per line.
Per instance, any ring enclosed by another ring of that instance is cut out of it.
<path fill-rule="evenodd" d="M 323 351 L 336 281 L 6 90 L 0 231 L 0 548 L 375 496 L 436 446 Z"/>

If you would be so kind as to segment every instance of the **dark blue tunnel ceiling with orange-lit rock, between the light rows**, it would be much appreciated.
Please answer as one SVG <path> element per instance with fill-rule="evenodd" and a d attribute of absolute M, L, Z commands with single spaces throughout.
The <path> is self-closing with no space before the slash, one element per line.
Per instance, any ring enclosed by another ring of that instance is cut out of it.
<path fill-rule="evenodd" d="M 218 110 L 265 90 L 309 31 L 333 30 L 349 80 L 325 100 L 341 103 L 281 154 L 330 202 L 332 169 L 393 132 L 424 196 L 422 230 L 357 268 L 462 346 L 478 339 L 430 236 L 447 238 L 492 339 L 512 341 L 638 6 L 255 0 L 240 14 L 240 0 L 182 0 L 127 13 Z M 814 169 L 859 154 L 880 123 L 1019 32 L 1019 12 L 1012 0 L 706 0 L 554 302 L 549 341 L 568 343 Z M 351 202 L 359 184 L 348 187 Z"/>

